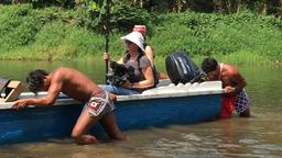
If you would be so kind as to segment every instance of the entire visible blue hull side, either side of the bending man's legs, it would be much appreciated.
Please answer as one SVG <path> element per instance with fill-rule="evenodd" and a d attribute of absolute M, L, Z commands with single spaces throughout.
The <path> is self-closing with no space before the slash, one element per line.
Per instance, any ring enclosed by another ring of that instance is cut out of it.
<path fill-rule="evenodd" d="M 14 109 L 0 111 L 0 144 L 40 142 L 70 137 L 83 104 Z M 194 124 L 214 120 L 220 111 L 220 94 L 120 101 L 116 117 L 122 131 Z M 95 135 L 105 134 L 95 126 Z"/>

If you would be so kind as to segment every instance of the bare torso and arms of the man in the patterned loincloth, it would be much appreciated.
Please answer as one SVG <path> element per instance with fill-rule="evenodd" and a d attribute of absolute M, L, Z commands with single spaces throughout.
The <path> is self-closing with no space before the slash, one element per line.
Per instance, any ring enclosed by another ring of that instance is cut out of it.
<path fill-rule="evenodd" d="M 41 90 L 47 91 L 47 95 L 36 99 L 21 99 L 14 105 L 21 110 L 28 105 L 44 105 L 55 102 L 59 92 L 79 100 L 88 101 L 93 95 L 102 93 L 104 90 L 93 82 L 87 76 L 78 70 L 59 67 L 44 77 L 44 84 Z M 109 94 L 111 100 L 116 100 L 115 94 Z"/>

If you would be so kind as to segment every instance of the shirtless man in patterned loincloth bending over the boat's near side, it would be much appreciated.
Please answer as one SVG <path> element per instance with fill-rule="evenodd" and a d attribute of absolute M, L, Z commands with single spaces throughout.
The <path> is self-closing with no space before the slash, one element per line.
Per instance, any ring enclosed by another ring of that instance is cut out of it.
<path fill-rule="evenodd" d="M 90 128 L 98 121 L 111 138 L 126 139 L 116 123 L 112 112 L 115 109 L 112 100 L 116 99 L 116 95 L 99 88 L 82 72 L 65 67 L 59 67 L 50 74 L 39 69 L 31 71 L 26 80 L 32 92 L 47 91 L 47 94 L 42 98 L 15 101 L 13 105 L 17 110 L 22 110 L 28 105 L 52 104 L 59 92 L 63 92 L 73 99 L 88 102 L 73 128 L 72 136 L 77 144 L 98 143 L 96 137 L 89 134 Z"/>

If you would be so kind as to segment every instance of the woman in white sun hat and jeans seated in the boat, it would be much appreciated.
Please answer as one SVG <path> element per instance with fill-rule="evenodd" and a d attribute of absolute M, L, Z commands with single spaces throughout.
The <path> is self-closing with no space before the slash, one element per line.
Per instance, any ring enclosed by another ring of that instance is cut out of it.
<path fill-rule="evenodd" d="M 144 38 L 141 33 L 132 32 L 121 40 L 124 43 L 127 52 L 122 58 L 122 64 L 132 72 L 128 74 L 128 79 L 122 86 L 113 84 L 100 86 L 108 92 L 120 95 L 139 94 L 142 91 L 154 87 L 153 69 L 150 60 L 144 55 Z M 104 59 L 110 60 L 108 53 L 104 55 Z"/>

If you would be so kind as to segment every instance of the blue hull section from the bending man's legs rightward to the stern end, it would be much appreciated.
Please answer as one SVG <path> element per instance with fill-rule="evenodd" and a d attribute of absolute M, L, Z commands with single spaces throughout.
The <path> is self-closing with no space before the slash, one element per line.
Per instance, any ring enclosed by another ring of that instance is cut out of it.
<path fill-rule="evenodd" d="M 220 95 L 152 99 L 117 104 L 117 120 L 124 131 L 170 124 L 194 124 L 218 116 Z"/>

